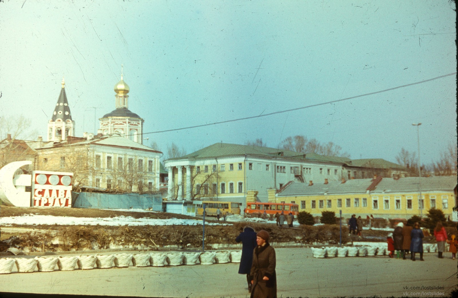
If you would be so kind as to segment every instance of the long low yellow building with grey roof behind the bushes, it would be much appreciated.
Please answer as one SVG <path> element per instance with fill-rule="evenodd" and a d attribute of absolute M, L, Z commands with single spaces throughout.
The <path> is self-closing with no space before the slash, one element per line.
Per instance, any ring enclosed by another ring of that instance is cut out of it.
<path fill-rule="evenodd" d="M 421 188 L 419 188 L 421 185 Z M 289 183 L 275 193 L 276 202 L 294 202 L 299 211 L 320 216 L 333 211 L 344 217 L 357 214 L 380 218 L 410 218 L 425 215 L 429 209 L 442 210 L 446 218 L 456 218 L 453 211 L 457 188 L 456 176 L 406 177 L 400 179 L 377 177 L 326 183 Z M 420 195 L 421 192 L 421 195 Z"/>

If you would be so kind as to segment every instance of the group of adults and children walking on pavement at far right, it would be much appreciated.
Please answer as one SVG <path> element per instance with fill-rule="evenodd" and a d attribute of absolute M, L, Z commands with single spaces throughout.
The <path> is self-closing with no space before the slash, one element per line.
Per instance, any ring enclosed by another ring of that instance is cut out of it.
<path fill-rule="evenodd" d="M 443 258 L 442 254 L 445 250 L 445 242 L 447 242 L 450 243 L 449 251 L 452 253 L 453 260 L 455 260 L 458 246 L 458 241 L 455 239 L 456 236 L 452 235 L 451 240 L 448 240 L 447 232 L 441 222 L 437 223 L 434 229 L 434 236 L 437 242 L 438 257 Z M 402 257 L 405 260 L 406 254 L 410 252 L 410 260 L 415 261 L 415 255 L 418 252 L 420 253 L 420 261 L 425 261 L 423 259 L 424 237 L 419 223 L 412 224 L 410 219 L 405 226 L 402 222 L 398 223 L 393 233 L 390 233 L 387 237 L 388 250 L 390 251 L 389 257 L 393 258 L 396 251 L 396 258 Z"/>

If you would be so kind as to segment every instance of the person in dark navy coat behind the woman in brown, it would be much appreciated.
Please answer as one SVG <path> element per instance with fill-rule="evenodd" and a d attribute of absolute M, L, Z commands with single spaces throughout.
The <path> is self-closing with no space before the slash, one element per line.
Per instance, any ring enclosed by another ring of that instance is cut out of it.
<path fill-rule="evenodd" d="M 246 226 L 240 229 L 240 234 L 235 238 L 235 242 L 242 242 L 242 256 L 240 258 L 239 274 L 246 274 L 246 282 L 248 283 L 248 293 L 251 293 L 251 264 L 253 262 L 253 250 L 256 243 L 256 232 L 253 228 Z"/>

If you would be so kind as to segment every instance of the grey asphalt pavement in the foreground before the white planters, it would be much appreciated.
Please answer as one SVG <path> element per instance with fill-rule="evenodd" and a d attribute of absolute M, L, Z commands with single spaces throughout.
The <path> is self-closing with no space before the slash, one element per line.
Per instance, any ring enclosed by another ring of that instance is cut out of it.
<path fill-rule="evenodd" d="M 276 253 L 278 297 L 283 298 L 444 297 L 457 284 L 457 261 L 451 259 L 451 253 L 445 253 L 444 259 L 426 253 L 425 261 L 415 262 L 387 256 L 316 259 L 310 248 L 277 248 Z M 249 297 L 238 267 L 229 263 L 11 273 L 0 276 L 0 292 Z"/>

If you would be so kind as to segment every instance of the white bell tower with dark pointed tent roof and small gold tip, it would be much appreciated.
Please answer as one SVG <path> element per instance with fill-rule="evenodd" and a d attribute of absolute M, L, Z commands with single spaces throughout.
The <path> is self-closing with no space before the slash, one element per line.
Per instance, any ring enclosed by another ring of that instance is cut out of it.
<path fill-rule="evenodd" d="M 65 94 L 65 81 L 62 78 L 62 89 L 55 106 L 53 117 L 48 122 L 48 141 L 63 141 L 75 135 L 75 122 L 71 119 L 70 106 Z"/>

